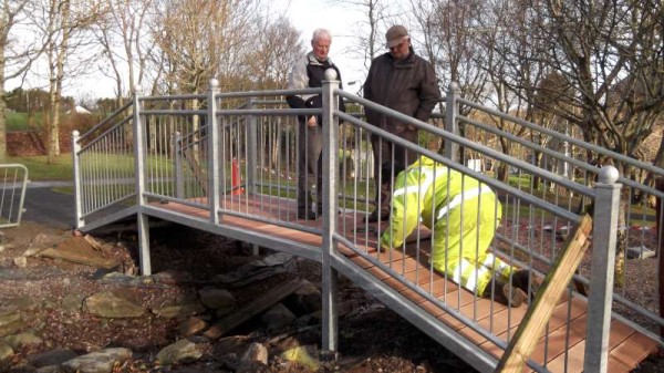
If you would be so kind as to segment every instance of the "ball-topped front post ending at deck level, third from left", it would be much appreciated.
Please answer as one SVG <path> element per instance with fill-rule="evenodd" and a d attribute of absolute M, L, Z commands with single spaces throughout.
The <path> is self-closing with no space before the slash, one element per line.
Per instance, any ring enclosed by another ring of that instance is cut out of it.
<path fill-rule="evenodd" d="M 210 221 L 219 224 L 219 126 L 217 125 L 217 93 L 219 81 L 210 79 L 208 86 L 208 203 L 210 204 Z"/>

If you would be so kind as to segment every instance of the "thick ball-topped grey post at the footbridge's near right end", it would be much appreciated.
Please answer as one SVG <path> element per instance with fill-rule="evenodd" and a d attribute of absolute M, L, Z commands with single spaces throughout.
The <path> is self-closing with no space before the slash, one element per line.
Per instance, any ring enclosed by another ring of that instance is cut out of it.
<path fill-rule="evenodd" d="M 615 263 L 616 228 L 621 184 L 613 166 L 604 166 L 595 185 L 592 228 L 592 263 L 588 297 L 588 327 L 585 331 L 584 372 L 606 372 L 613 272 Z"/>

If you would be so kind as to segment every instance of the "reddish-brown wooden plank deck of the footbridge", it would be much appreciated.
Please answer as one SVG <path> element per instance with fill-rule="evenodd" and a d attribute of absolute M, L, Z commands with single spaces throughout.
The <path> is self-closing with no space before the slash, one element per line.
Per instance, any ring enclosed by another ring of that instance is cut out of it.
<path fill-rule="evenodd" d="M 236 195 L 227 196 L 220 205 L 225 209 L 260 216 L 263 219 L 279 219 L 280 221 L 297 222 L 309 227 L 322 227 L 322 220 L 297 220 L 294 204 L 281 198 L 266 196 L 252 198 L 247 195 Z M 184 216 L 209 217 L 209 211 L 188 205 L 167 203 L 155 204 L 154 206 Z M 321 247 L 322 242 L 321 237 L 315 234 L 231 215 L 222 215 L 220 225 L 240 228 L 247 232 L 270 235 L 282 240 L 313 247 Z M 377 234 L 375 230 L 373 234 L 357 234 L 354 230 L 355 225 L 363 225 L 359 215 L 342 214 L 339 216 L 338 230 L 351 242 L 365 250 L 367 255 L 387 267 L 392 266 L 391 268 L 395 272 L 398 272 L 412 283 L 417 283 L 426 293 L 433 294 L 449 308 L 457 310 L 467 319 L 474 320 L 477 325 L 491 331 L 504 341 L 513 335 L 527 311 L 527 304 L 519 308 L 507 308 L 488 299 L 477 299 L 473 293 L 460 289 L 452 280 L 445 279 L 437 272 L 430 272 L 429 266 L 426 265 L 428 244 L 423 244 L 428 242 L 428 240 L 421 240 L 417 247 L 409 246 L 405 253 L 397 250 L 381 252 L 376 249 Z M 374 266 L 370 260 L 343 245 L 340 245 L 339 251 L 354 262 L 359 269 L 371 273 L 375 281 L 383 282 L 404 299 L 417 304 L 422 310 L 455 330 L 461 338 L 471 341 L 478 349 L 485 350 L 497 359 L 502 355 L 504 350 L 500 346 L 465 325 L 458 318 L 446 312 L 439 305 L 408 289 L 403 281 L 393 277 L 386 270 Z M 551 372 L 563 372 L 566 365 L 567 372 L 582 372 L 585 321 L 585 299 L 580 297 L 561 299 L 549 321 L 548 338 L 540 340 L 531 359 L 541 365 L 546 365 Z M 567 328 L 568 323 L 569 328 Z M 609 372 L 630 372 L 657 348 L 656 341 L 615 319 L 611 324 L 609 344 Z"/>

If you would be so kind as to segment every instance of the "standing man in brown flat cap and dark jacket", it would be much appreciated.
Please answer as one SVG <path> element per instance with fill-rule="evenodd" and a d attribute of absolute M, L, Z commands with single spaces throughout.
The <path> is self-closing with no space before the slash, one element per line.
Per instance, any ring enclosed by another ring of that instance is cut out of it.
<path fill-rule="evenodd" d="M 411 45 L 408 30 L 396 24 L 385 34 L 390 52 L 375 58 L 364 82 L 364 97 L 377 104 L 395 110 L 419 121 L 426 122 L 434 106 L 440 101 L 440 91 L 436 73 L 430 63 L 415 54 Z M 366 121 L 382 129 L 417 144 L 418 131 L 414 125 L 386 117 L 369 107 L 365 108 Z M 417 160 L 417 155 L 403 146 L 385 141 L 377 135 L 371 135 L 374 156 L 374 180 L 376 208 L 366 217 L 367 222 L 387 220 L 390 217 L 390 200 L 392 183 L 385 183 L 382 177 L 392 177 L 394 173 L 381 175 L 384 163 L 409 165 Z"/>

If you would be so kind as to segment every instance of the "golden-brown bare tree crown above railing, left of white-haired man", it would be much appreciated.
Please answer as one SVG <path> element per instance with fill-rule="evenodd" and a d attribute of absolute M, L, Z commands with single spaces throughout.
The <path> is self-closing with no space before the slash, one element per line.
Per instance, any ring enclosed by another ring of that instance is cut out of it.
<path fill-rule="evenodd" d="M 168 0 L 156 2 L 153 38 L 174 69 L 167 79 L 179 92 L 195 93 L 211 77 L 232 82 L 245 62 L 260 1 Z"/>

